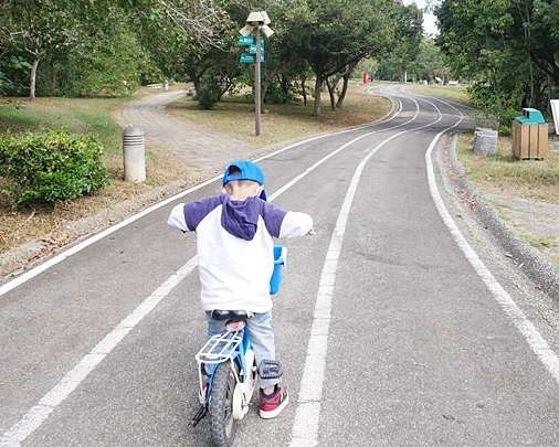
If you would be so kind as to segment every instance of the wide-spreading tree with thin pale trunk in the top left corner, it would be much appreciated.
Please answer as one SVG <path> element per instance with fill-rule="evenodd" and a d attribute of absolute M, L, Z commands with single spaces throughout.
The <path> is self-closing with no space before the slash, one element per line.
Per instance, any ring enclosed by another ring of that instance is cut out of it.
<path fill-rule="evenodd" d="M 147 73 L 157 73 L 146 54 L 164 52 L 169 61 L 176 42 L 219 46 L 221 19 L 221 11 L 204 0 L 4 0 L 0 54 L 29 55 L 32 99 L 41 61 L 48 64 L 41 85 L 50 93 L 60 94 L 56 86 L 64 78 L 72 84 L 64 94 L 122 94 Z"/>

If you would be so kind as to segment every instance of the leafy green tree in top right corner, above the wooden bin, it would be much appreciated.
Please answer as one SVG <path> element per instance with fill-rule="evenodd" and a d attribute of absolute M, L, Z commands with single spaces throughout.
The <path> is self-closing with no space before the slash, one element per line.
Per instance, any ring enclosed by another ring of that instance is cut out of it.
<path fill-rule="evenodd" d="M 547 76 L 559 86 L 557 0 L 445 0 L 435 14 L 437 44 L 456 71 L 494 89 L 503 83 L 532 106 L 545 96 Z"/>

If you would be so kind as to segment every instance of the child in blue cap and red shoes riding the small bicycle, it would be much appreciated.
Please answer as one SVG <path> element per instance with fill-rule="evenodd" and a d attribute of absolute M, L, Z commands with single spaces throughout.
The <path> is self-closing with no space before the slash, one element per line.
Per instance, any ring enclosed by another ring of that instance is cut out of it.
<path fill-rule="evenodd" d="M 201 302 L 208 337 L 224 330 L 212 310 L 245 310 L 256 364 L 275 360 L 270 278 L 274 269 L 273 237 L 304 236 L 313 219 L 266 202 L 264 174 L 251 161 L 235 161 L 225 170 L 223 194 L 175 206 L 167 223 L 197 232 Z M 260 379 L 260 415 L 268 419 L 287 405 L 280 379 Z"/>

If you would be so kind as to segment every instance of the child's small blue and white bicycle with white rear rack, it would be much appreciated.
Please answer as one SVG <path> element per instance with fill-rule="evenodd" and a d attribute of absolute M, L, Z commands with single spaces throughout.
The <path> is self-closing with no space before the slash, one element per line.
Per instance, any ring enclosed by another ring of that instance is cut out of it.
<path fill-rule="evenodd" d="M 280 289 L 286 258 L 287 248 L 274 246 L 271 295 Z M 219 321 L 228 321 L 226 330 L 209 339 L 194 356 L 198 364 L 200 407 L 192 418 L 192 425 L 197 426 L 209 415 L 213 445 L 226 447 L 233 443 L 239 421 L 249 412 L 257 375 L 263 379 L 280 377 L 283 369 L 276 360 L 263 360 L 256 365 L 245 322 L 252 317 L 251 312 L 218 309 L 212 310 L 211 316 Z"/>

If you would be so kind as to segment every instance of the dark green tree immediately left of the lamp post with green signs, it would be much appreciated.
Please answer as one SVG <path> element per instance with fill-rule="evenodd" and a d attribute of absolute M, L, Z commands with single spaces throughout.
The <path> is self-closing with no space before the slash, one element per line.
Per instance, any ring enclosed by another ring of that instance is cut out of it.
<path fill-rule="evenodd" d="M 175 0 L 139 13 L 141 42 L 170 78 L 192 82 L 202 108 L 212 108 L 241 72 L 235 2 Z"/>

